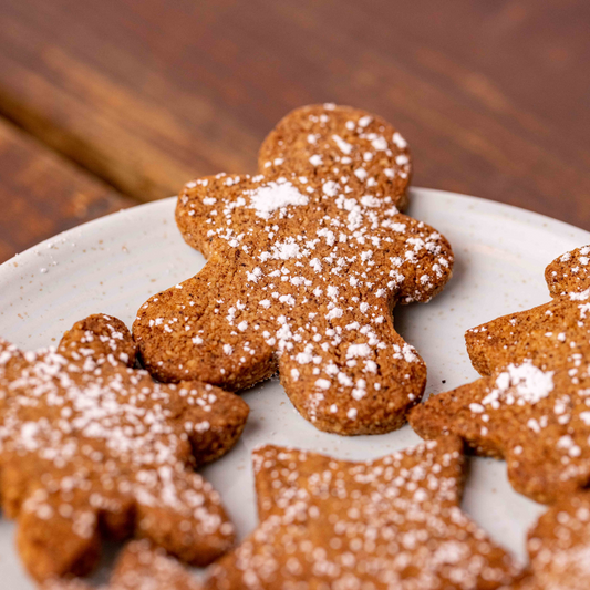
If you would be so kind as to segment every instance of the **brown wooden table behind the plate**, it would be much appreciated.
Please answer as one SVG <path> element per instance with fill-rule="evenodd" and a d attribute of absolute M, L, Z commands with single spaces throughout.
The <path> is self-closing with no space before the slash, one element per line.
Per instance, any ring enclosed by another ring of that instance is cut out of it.
<path fill-rule="evenodd" d="M 587 0 L 1 0 L 0 261 L 194 176 L 289 110 L 407 137 L 415 186 L 590 229 Z"/>

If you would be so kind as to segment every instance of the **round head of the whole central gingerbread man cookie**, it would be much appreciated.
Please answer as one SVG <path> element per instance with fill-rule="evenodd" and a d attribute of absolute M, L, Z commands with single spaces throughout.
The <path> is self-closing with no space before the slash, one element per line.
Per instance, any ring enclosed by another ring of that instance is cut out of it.
<path fill-rule="evenodd" d="M 258 167 L 269 178 L 346 178 L 351 193 L 407 205 L 412 177 L 407 142 L 390 123 L 350 106 L 303 106 L 287 115 L 265 139 Z"/>

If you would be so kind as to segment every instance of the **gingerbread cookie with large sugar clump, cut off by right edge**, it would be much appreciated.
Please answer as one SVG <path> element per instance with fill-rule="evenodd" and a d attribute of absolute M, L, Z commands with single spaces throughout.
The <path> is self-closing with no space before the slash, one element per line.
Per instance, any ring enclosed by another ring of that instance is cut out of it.
<path fill-rule="evenodd" d="M 590 482 L 589 247 L 547 267 L 552 301 L 466 333 L 483 379 L 414 408 L 424 437 L 462 436 L 480 455 L 506 458 L 513 486 L 538 501 Z"/>

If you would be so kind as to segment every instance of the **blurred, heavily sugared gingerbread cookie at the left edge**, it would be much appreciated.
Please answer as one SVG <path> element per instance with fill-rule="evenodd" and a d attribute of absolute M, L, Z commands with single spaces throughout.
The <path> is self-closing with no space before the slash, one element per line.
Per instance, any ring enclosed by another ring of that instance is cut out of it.
<path fill-rule="evenodd" d="M 103 534 L 198 565 L 232 544 L 194 467 L 231 448 L 248 406 L 198 382 L 154 383 L 134 362 L 128 330 L 108 315 L 76 323 L 58 350 L 0 341 L 0 498 L 39 580 L 87 572 Z"/>

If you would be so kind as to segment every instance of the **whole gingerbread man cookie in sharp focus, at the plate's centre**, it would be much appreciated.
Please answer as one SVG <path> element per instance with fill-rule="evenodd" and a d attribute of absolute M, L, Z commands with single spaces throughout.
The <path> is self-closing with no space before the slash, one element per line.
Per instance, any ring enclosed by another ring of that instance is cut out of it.
<path fill-rule="evenodd" d="M 405 141 L 363 111 L 308 106 L 271 132 L 259 168 L 180 193 L 178 227 L 208 262 L 138 311 L 143 362 L 162 381 L 229 390 L 279 369 L 293 405 L 320 429 L 400 427 L 426 368 L 391 310 L 429 300 L 453 265 L 445 238 L 398 211 Z"/>

